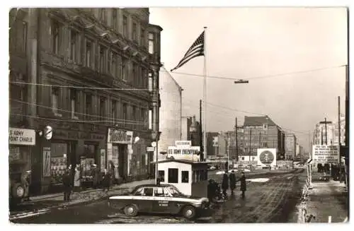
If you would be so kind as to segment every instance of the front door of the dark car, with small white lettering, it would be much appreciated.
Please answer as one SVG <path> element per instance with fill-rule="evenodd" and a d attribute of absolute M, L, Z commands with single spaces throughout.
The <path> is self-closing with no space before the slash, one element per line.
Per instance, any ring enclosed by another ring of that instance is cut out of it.
<path fill-rule="evenodd" d="M 171 194 L 163 186 L 154 187 L 153 213 L 171 213 Z"/>

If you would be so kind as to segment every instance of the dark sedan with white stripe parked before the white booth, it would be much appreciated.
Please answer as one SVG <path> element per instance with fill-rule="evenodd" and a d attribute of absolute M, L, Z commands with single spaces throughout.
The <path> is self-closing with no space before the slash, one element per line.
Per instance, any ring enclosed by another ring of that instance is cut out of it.
<path fill-rule="evenodd" d="M 142 213 L 181 214 L 188 220 L 194 219 L 207 209 L 209 200 L 205 197 L 182 194 L 171 184 L 142 184 L 132 192 L 110 196 L 108 206 L 134 217 Z"/>

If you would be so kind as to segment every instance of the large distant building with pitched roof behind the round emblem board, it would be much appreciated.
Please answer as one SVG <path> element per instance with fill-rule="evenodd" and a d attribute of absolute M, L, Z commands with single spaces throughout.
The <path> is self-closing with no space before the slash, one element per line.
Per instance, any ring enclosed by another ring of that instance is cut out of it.
<path fill-rule="evenodd" d="M 257 148 L 277 148 L 277 159 L 285 158 L 285 133 L 270 117 L 244 117 L 244 153 L 257 155 Z"/>

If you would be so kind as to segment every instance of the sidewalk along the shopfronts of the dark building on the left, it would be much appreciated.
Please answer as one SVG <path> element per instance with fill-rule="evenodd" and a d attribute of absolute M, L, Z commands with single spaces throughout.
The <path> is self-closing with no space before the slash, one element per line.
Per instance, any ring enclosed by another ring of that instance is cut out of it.
<path fill-rule="evenodd" d="M 47 194 L 42 196 L 31 196 L 30 201 L 22 203 L 21 206 L 30 206 L 34 210 L 39 209 L 54 209 L 54 208 L 65 208 L 67 206 L 79 205 L 81 203 L 89 203 L 97 201 L 99 199 L 106 198 L 108 196 L 114 196 L 117 194 L 124 194 L 127 191 L 132 190 L 135 186 L 140 184 L 154 184 L 154 179 L 145 179 L 142 181 L 129 182 L 125 184 L 119 184 L 112 186 L 110 191 L 103 192 L 103 189 L 89 189 L 81 191 L 79 193 L 73 193 L 70 196 L 70 201 L 64 201 L 64 194 Z M 17 211 L 18 213 L 19 211 Z M 16 211 L 11 212 L 12 214 Z"/>

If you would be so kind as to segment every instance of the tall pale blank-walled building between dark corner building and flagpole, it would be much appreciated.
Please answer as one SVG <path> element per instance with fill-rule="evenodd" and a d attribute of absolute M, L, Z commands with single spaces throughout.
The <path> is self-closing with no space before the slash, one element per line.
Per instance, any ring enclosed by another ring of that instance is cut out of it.
<path fill-rule="evenodd" d="M 159 115 L 160 141 L 159 152 L 167 151 L 181 140 L 182 88 L 171 74 L 161 67 L 159 73 L 161 107 Z"/>

